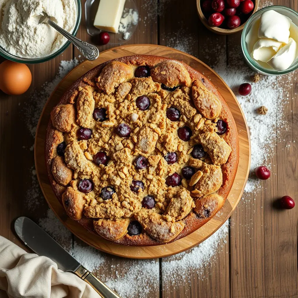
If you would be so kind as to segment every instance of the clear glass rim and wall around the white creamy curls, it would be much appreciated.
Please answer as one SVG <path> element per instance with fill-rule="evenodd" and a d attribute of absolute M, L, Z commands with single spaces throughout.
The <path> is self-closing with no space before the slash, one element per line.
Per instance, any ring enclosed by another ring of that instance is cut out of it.
<path fill-rule="evenodd" d="M 292 66 L 290 66 L 288 69 L 286 70 L 281 70 L 281 71 L 278 71 L 278 70 L 270 70 L 270 69 L 266 69 L 266 68 L 263 68 L 262 66 L 260 66 L 259 64 L 257 64 L 250 56 L 249 52 L 247 51 L 246 49 L 246 42 L 245 42 L 245 37 L 246 37 L 246 32 L 248 30 L 248 27 L 249 25 L 254 21 L 256 20 L 261 13 L 267 11 L 267 10 L 271 10 L 271 9 L 275 9 L 275 8 L 278 8 L 278 9 L 282 9 L 282 10 L 288 10 L 289 12 L 291 12 L 293 15 L 296 16 L 296 18 L 298 19 L 298 13 L 297 11 L 291 9 L 290 7 L 286 7 L 286 6 L 282 6 L 282 5 L 271 5 L 271 6 L 267 6 L 267 7 L 264 7 L 258 11 L 256 11 L 246 22 L 245 26 L 244 26 L 244 29 L 242 31 L 242 35 L 241 35 L 241 48 L 242 48 L 242 52 L 243 52 L 243 55 L 247 61 L 247 63 L 249 64 L 249 66 L 251 66 L 253 69 L 257 69 L 259 72 L 262 72 L 264 74 L 267 74 L 267 75 L 285 75 L 285 74 L 288 74 L 294 70 L 296 70 L 298 68 L 298 60 L 292 64 Z"/>

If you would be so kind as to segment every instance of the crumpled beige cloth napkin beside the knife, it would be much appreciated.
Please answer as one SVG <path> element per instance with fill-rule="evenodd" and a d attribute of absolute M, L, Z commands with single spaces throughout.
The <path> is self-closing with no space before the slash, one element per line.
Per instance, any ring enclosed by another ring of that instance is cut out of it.
<path fill-rule="evenodd" d="M 61 271 L 48 257 L 28 254 L 2 236 L 0 297 L 4 297 L 1 290 L 9 298 L 100 297 L 85 281 L 71 272 Z"/>

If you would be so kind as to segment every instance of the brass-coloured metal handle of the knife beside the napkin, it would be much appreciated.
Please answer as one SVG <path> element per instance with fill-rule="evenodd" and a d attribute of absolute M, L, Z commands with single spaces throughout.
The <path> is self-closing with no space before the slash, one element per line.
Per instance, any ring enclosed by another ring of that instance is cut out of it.
<path fill-rule="evenodd" d="M 85 280 L 86 283 L 89 283 L 98 294 L 103 298 L 121 298 L 113 290 L 108 288 L 101 280 L 97 279 L 91 272 L 89 272 L 82 265 L 75 272 L 78 277 L 82 280 Z"/>

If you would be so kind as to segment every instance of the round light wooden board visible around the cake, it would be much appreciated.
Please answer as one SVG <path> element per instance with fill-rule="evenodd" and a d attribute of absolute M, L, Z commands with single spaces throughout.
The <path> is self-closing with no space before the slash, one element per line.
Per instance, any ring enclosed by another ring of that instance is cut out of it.
<path fill-rule="evenodd" d="M 74 83 L 78 78 L 80 78 L 83 74 L 85 74 L 87 71 L 97 66 L 98 64 L 101 64 L 110 59 L 137 54 L 174 58 L 176 60 L 187 63 L 189 66 L 203 73 L 203 75 L 209 78 L 209 80 L 211 80 L 211 82 L 217 87 L 218 91 L 222 94 L 222 96 L 228 103 L 235 119 L 239 135 L 239 166 L 234 184 L 232 186 L 232 190 L 229 193 L 224 207 L 204 226 L 191 233 L 190 235 L 173 243 L 162 244 L 158 246 L 136 247 L 114 244 L 108 240 L 101 238 L 100 236 L 87 232 L 87 230 L 84 229 L 80 224 L 78 224 L 76 221 L 71 220 L 66 215 L 63 206 L 60 204 L 52 190 L 51 184 L 48 179 L 44 157 L 46 127 L 50 119 L 50 112 L 52 108 L 57 105 L 60 97 L 69 88 L 69 86 L 71 86 L 72 83 Z M 49 97 L 41 113 L 41 117 L 39 119 L 36 130 L 34 153 L 37 177 L 46 201 L 55 212 L 57 217 L 60 219 L 60 221 L 74 235 L 82 239 L 87 244 L 110 254 L 115 254 L 121 257 L 149 259 L 166 257 L 190 249 L 208 238 L 216 230 L 218 230 L 222 224 L 224 224 L 224 222 L 230 217 L 230 215 L 236 208 L 243 194 L 243 190 L 249 174 L 251 149 L 248 126 L 243 112 L 232 90 L 226 85 L 221 77 L 219 77 L 205 63 L 184 52 L 180 52 L 176 49 L 166 46 L 138 44 L 119 46 L 101 52 L 99 58 L 96 61 L 84 61 L 71 72 L 69 72 L 68 75 L 66 75 L 66 77 L 59 83 L 59 85 Z"/>

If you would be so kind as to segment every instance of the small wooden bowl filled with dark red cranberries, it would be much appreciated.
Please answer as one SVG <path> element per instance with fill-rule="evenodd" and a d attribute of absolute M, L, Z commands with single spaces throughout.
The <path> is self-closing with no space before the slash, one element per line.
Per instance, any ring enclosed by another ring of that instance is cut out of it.
<path fill-rule="evenodd" d="M 241 31 L 257 8 L 258 0 L 197 0 L 201 21 L 218 34 Z"/>

